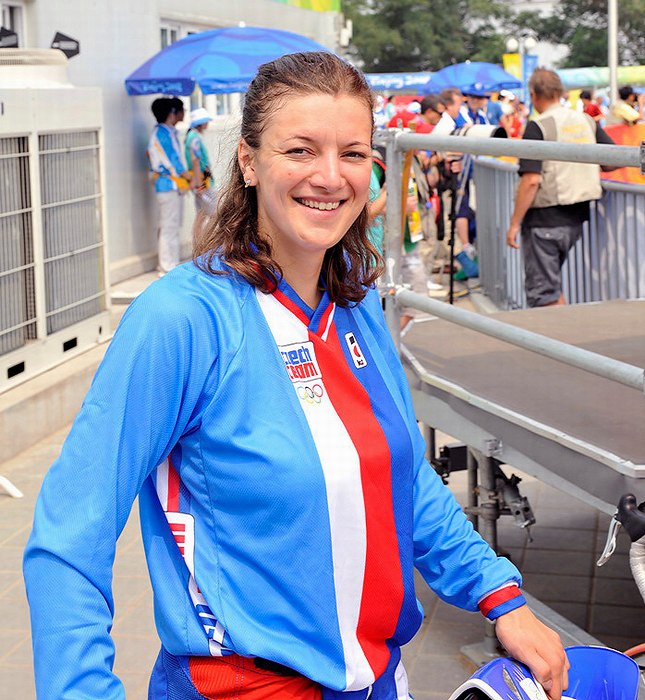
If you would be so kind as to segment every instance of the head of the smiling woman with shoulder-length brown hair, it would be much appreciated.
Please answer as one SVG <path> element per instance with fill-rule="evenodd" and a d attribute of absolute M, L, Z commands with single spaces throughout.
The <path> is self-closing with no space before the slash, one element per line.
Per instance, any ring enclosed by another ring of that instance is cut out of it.
<path fill-rule="evenodd" d="M 331 53 L 262 66 L 218 217 L 196 243 L 202 266 L 217 253 L 265 290 L 284 277 L 312 308 L 322 271 L 334 302 L 362 299 L 381 271 L 366 233 L 372 107 L 364 76 Z"/>

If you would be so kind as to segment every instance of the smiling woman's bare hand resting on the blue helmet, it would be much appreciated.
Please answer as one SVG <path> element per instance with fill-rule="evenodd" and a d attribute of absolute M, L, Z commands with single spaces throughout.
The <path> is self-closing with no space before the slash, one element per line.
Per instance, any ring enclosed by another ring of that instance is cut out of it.
<path fill-rule="evenodd" d="M 506 651 L 531 669 L 550 700 L 560 700 L 568 685 L 569 660 L 558 634 L 526 605 L 498 617 L 495 627 Z"/>

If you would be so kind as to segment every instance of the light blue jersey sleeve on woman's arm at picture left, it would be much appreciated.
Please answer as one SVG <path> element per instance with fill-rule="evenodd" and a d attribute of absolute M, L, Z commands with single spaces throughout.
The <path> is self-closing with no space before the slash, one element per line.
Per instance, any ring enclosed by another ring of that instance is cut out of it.
<path fill-rule="evenodd" d="M 39 698 L 125 697 L 109 634 L 116 540 L 146 476 L 198 420 L 215 355 L 166 290 L 126 311 L 36 503 L 23 569 Z"/>

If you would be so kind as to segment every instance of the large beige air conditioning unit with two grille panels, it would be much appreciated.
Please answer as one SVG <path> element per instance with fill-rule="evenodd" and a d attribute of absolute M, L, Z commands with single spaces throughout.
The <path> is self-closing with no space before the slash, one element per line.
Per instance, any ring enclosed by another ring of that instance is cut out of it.
<path fill-rule="evenodd" d="M 0 392 L 108 335 L 102 119 L 62 52 L 0 52 Z"/>

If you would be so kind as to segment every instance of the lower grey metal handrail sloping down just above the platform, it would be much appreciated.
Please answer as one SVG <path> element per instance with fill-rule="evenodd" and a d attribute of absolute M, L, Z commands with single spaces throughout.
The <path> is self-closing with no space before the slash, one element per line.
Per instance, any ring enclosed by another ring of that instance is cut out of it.
<path fill-rule="evenodd" d="M 401 286 L 396 287 L 394 291 L 397 303 L 403 306 L 425 311 L 464 328 L 484 333 L 492 338 L 503 340 L 645 393 L 645 369 L 641 367 L 620 362 L 611 357 L 605 357 L 488 316 L 465 311 L 442 301 L 429 299 Z"/>

